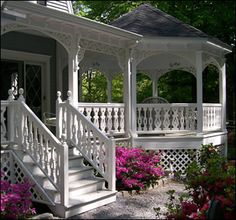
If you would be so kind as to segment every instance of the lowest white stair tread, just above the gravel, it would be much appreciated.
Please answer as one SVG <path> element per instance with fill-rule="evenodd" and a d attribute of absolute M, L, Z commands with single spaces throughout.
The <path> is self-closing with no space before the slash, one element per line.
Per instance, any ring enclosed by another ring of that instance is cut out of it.
<path fill-rule="evenodd" d="M 96 192 L 90 192 L 90 193 L 80 195 L 80 196 L 72 195 L 69 198 L 68 207 L 94 202 L 96 200 L 103 199 L 105 197 L 112 196 L 112 195 L 116 195 L 116 191 L 110 191 L 107 189 L 98 190 Z"/>

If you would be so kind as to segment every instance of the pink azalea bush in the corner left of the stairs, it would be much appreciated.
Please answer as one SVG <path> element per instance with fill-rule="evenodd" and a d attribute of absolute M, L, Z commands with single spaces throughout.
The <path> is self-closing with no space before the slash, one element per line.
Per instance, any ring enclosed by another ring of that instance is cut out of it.
<path fill-rule="evenodd" d="M 31 208 L 31 187 L 28 180 L 17 184 L 1 180 L 1 218 L 22 219 L 36 214 Z"/>

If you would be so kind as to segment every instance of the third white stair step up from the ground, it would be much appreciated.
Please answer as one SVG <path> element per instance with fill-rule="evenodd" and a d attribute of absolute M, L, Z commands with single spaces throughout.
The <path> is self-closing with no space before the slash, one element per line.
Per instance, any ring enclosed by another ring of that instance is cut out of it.
<path fill-rule="evenodd" d="M 93 177 L 93 167 L 72 167 L 69 169 L 69 182 Z"/>

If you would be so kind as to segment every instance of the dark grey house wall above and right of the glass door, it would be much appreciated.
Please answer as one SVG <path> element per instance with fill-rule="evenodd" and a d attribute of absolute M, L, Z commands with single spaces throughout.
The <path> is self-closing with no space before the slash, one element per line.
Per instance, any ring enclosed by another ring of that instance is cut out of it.
<path fill-rule="evenodd" d="M 56 41 L 47 37 L 19 32 L 9 32 L 1 36 L 1 48 L 51 56 L 50 95 L 51 112 L 55 112 L 56 101 Z"/>

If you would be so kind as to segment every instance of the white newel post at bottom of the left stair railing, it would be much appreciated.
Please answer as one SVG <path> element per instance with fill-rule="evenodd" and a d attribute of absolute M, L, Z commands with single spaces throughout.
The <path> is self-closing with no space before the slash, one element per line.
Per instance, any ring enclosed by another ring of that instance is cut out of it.
<path fill-rule="evenodd" d="M 61 143 L 62 143 L 62 160 L 61 160 L 61 203 L 63 206 L 67 206 L 69 203 L 69 181 L 68 181 L 68 145 L 65 141 L 65 135 L 61 135 Z"/>

